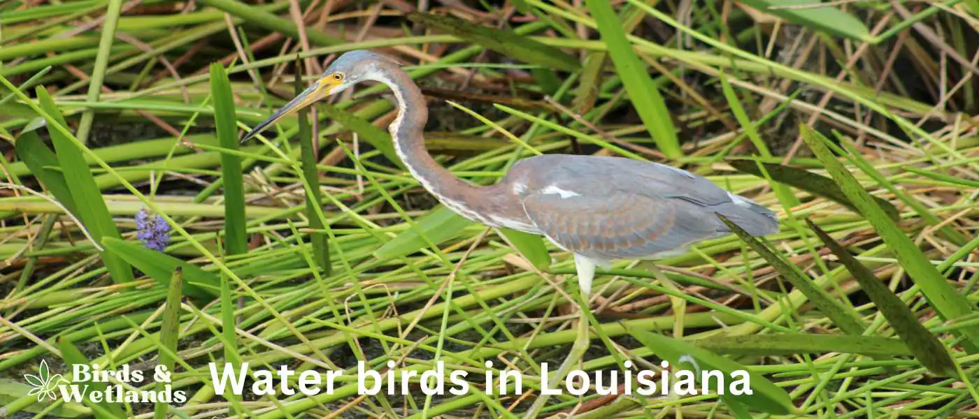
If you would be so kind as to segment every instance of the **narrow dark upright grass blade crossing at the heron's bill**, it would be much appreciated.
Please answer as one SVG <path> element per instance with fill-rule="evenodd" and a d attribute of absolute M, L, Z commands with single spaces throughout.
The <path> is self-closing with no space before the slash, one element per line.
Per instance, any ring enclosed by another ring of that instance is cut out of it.
<path fill-rule="evenodd" d="M 305 85 L 303 85 L 303 60 L 299 57 L 296 58 L 296 95 L 303 93 L 305 90 Z M 309 126 L 309 110 L 308 108 L 300 109 L 299 112 L 299 138 L 300 138 L 300 156 L 303 162 L 303 182 L 309 187 L 306 193 L 306 218 L 309 220 L 309 228 L 312 230 L 320 230 L 320 232 L 310 232 L 309 242 L 312 245 L 312 254 L 314 260 L 319 265 L 321 271 L 323 271 L 324 276 L 330 276 L 330 272 L 333 267 L 330 265 L 330 243 L 328 241 L 326 232 L 323 232 L 323 220 L 319 218 L 316 212 L 316 208 L 313 205 L 319 205 L 320 199 L 320 189 L 319 189 L 319 171 L 316 170 L 316 148 L 312 145 L 312 128 Z"/>

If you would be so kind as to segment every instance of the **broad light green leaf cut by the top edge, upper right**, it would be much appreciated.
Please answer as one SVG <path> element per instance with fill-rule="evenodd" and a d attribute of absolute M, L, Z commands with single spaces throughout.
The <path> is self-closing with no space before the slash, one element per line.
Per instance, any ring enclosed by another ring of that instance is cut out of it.
<path fill-rule="evenodd" d="M 857 17 L 835 6 L 793 8 L 819 4 L 811 0 L 744 0 L 742 3 L 786 21 L 858 41 L 870 40 L 870 31 Z"/>

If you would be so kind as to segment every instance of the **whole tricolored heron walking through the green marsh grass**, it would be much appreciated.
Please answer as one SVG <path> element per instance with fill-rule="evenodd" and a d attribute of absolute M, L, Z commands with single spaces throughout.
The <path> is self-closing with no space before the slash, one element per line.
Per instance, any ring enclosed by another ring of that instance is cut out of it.
<path fill-rule="evenodd" d="M 322 78 L 258 124 L 244 140 L 293 111 L 368 80 L 384 83 L 395 93 L 397 117 L 389 130 L 397 155 L 422 187 L 467 219 L 543 235 L 572 253 L 585 304 L 596 266 L 621 259 L 660 259 L 729 233 L 717 213 L 752 235 L 778 231 L 775 214 L 750 199 L 685 170 L 629 158 L 536 155 L 518 161 L 493 186 L 469 184 L 443 168 L 425 149 L 422 129 L 428 106 L 418 86 L 397 63 L 368 51 L 340 56 Z M 582 307 L 578 339 L 556 380 L 567 374 L 587 348 L 584 310 Z"/>

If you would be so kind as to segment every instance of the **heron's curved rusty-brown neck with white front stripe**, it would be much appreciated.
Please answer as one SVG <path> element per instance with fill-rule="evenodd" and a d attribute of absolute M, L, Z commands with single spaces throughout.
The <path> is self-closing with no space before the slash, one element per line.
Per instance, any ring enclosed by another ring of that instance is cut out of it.
<path fill-rule="evenodd" d="M 372 78 L 387 84 L 395 93 L 397 117 L 389 130 L 398 157 L 422 187 L 455 212 L 490 226 L 497 224 L 492 222 L 492 216 L 506 217 L 513 212 L 507 203 L 510 196 L 502 193 L 505 186 L 474 186 L 457 178 L 429 154 L 423 136 L 428 105 L 421 89 L 404 70 L 394 63 L 379 63 Z"/>

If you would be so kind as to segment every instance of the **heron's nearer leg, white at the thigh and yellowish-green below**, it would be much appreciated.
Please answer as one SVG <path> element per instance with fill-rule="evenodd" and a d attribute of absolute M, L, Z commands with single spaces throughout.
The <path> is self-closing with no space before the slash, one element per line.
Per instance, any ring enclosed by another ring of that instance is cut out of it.
<path fill-rule="evenodd" d="M 557 371 L 551 373 L 550 377 L 547 377 L 547 382 L 561 383 L 564 377 L 571 372 L 571 369 L 582 360 L 584 353 L 588 351 L 588 343 L 591 340 L 588 337 L 588 315 L 585 314 L 588 309 L 588 301 L 591 296 L 591 281 L 595 278 L 595 262 L 585 258 L 580 255 L 575 255 L 575 268 L 578 270 L 578 287 L 581 291 L 581 300 L 579 304 L 579 317 L 578 317 L 578 333 L 575 337 L 575 342 L 571 346 L 571 352 L 568 353 L 568 357 L 564 358 L 564 362 L 561 362 L 561 366 L 558 367 Z M 549 396 L 541 395 L 534 401 L 531 408 L 524 415 L 525 419 L 536 418 L 537 412 L 547 404 L 547 398 Z"/>

